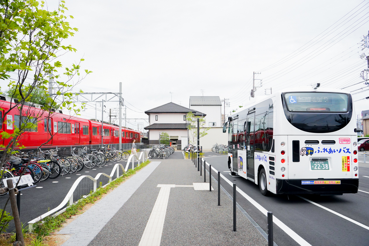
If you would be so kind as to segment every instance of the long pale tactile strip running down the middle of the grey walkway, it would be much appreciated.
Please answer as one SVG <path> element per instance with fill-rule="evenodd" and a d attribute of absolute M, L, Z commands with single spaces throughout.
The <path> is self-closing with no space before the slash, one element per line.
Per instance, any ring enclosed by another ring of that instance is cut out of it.
<path fill-rule="evenodd" d="M 175 184 L 158 184 L 161 187 L 154 208 L 152 209 L 149 220 L 146 224 L 144 233 L 138 246 L 159 246 L 163 233 L 163 226 L 168 207 L 170 188 L 176 187 Z"/>

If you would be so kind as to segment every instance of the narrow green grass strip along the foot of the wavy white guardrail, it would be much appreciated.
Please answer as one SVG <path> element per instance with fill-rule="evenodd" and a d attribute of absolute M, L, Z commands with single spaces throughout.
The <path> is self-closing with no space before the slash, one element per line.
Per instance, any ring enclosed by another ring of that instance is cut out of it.
<path fill-rule="evenodd" d="M 121 177 L 114 179 L 111 181 L 106 187 L 100 187 L 95 192 L 90 191 L 90 194 L 86 198 L 81 198 L 77 202 L 69 205 L 65 212 L 57 215 L 57 216 L 47 216 L 42 221 L 38 221 L 33 225 L 33 232 L 37 233 L 38 237 L 45 237 L 53 233 L 56 229 L 59 229 L 62 224 L 66 221 L 66 219 L 72 217 L 73 215 L 82 214 L 82 209 L 87 204 L 93 204 L 98 201 L 103 194 L 106 194 L 109 190 L 113 190 L 115 187 L 119 186 L 127 177 L 130 177 L 136 173 L 136 171 L 142 169 L 147 166 L 150 161 L 147 160 L 144 163 L 141 163 L 135 169 L 130 169 L 126 173 L 124 173 Z M 100 182 L 101 186 L 101 182 Z"/>

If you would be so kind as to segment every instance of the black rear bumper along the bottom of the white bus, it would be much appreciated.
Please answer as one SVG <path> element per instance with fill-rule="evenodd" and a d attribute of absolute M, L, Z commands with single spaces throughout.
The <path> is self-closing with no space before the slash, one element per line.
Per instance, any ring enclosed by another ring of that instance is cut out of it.
<path fill-rule="evenodd" d="M 340 180 L 341 184 L 302 184 L 303 181 L 323 181 L 321 179 L 276 179 L 276 194 L 358 193 L 359 179 L 324 179 L 324 181 L 329 180 Z"/>

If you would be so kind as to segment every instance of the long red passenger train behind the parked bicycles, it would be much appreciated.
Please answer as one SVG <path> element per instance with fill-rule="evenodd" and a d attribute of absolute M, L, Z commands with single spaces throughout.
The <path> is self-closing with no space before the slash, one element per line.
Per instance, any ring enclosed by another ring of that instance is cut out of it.
<path fill-rule="evenodd" d="M 4 117 L 4 110 L 9 110 L 10 102 L 0 100 L 0 108 L 2 109 L 0 111 L 0 134 L 3 131 L 13 133 L 13 125 L 7 124 L 7 122 L 14 121 L 14 124 L 19 124 L 19 109 L 15 108 L 11 110 Z M 49 138 L 48 128 L 52 135 L 55 135 L 45 146 L 101 144 L 101 122 L 71 117 L 61 112 L 54 112 L 48 118 L 48 112 L 36 107 L 24 106 L 23 112 L 27 112 L 28 116 L 33 115 L 34 119 L 37 118 L 38 121 L 37 128 L 29 129 L 30 131 L 24 132 L 21 135 L 18 141 L 20 145 L 33 147 L 46 142 Z M 36 122 L 33 123 L 35 124 Z M 119 143 L 119 127 L 104 123 L 103 128 L 104 144 Z M 122 128 L 122 143 L 132 143 L 133 139 L 136 139 L 138 143 L 140 142 L 140 138 L 141 136 L 138 131 Z M 0 143 L 7 145 L 8 141 L 7 139 L 1 139 Z"/>

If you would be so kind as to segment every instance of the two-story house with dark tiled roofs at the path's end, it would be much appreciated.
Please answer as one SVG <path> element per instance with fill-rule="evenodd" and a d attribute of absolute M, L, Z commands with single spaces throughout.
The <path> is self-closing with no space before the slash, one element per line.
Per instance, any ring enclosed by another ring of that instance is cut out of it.
<path fill-rule="evenodd" d="M 149 116 L 150 125 L 144 128 L 149 130 L 149 143 L 159 143 L 159 134 L 166 132 L 173 143 L 179 143 L 177 140 L 180 140 L 183 146 L 187 145 L 189 135 L 186 118 L 188 112 L 192 112 L 196 116 L 206 116 L 202 112 L 172 102 L 145 111 L 145 114 Z"/>

